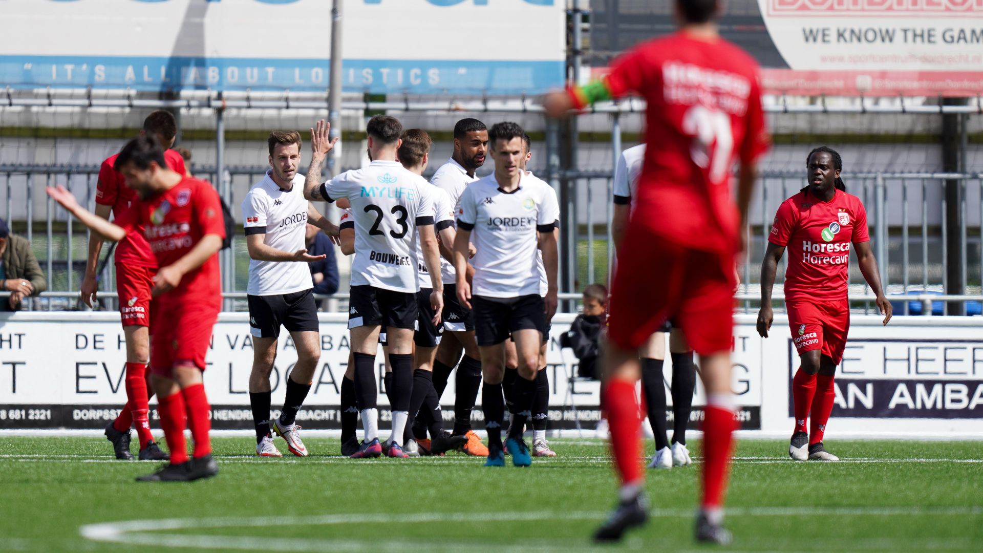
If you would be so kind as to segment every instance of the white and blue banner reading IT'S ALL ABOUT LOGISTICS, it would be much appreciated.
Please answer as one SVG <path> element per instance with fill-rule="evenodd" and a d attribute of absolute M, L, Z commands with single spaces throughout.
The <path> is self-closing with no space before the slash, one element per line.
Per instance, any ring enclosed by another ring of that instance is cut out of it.
<path fill-rule="evenodd" d="M 545 92 L 563 82 L 564 9 L 558 0 L 347 0 L 342 88 Z M 4 23 L 0 82 L 11 87 L 323 92 L 329 85 L 324 0 L 5 0 Z M 462 33 L 493 37 L 502 29 L 522 40 L 452 46 Z"/>

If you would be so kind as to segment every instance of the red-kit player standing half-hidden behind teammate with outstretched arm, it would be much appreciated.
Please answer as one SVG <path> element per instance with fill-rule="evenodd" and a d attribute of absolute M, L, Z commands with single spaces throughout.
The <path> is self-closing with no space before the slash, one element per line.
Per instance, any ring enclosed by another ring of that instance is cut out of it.
<path fill-rule="evenodd" d="M 168 148 L 177 136 L 177 121 L 170 111 L 158 109 L 144 119 L 141 136 L 152 136 Z M 113 214 L 121 220 L 124 213 L 135 209 L 137 193 L 126 187 L 123 175 L 113 168 L 118 154 L 110 155 L 99 167 L 99 180 L 95 189 L 95 215 L 104 219 Z M 167 165 L 185 174 L 184 158 L 173 150 L 164 152 Z M 102 237 L 92 234 L 88 239 L 88 260 L 86 276 L 82 280 L 82 301 L 92 307 L 96 299 L 98 276 L 95 274 L 102 249 Z M 157 262 L 150 253 L 150 246 L 142 228 L 135 228 L 126 235 L 116 248 L 116 289 L 119 292 L 119 305 L 123 334 L 126 338 L 126 406 L 120 410 L 116 420 L 106 426 L 106 438 L 112 442 L 116 459 L 132 461 L 130 453 L 130 427 L 136 423 L 137 437 L 140 440 L 141 461 L 166 461 L 167 454 L 160 451 L 150 434 L 148 399 L 153 392 L 148 390 L 150 375 L 146 363 L 150 359 L 150 288 Z"/>

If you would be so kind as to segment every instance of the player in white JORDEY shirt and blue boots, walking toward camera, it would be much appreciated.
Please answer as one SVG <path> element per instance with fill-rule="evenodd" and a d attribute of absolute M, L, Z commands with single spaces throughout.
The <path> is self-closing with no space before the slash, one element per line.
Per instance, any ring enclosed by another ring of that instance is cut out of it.
<path fill-rule="evenodd" d="M 489 458 L 486 466 L 503 466 L 507 448 L 516 466 L 532 458 L 522 440 L 531 415 L 539 370 L 539 351 L 546 321 L 556 311 L 556 237 L 559 218 L 556 193 L 545 182 L 522 170 L 525 132 L 515 123 L 498 123 L 489 133 L 495 168 L 491 175 L 465 189 L 458 207 L 454 267 L 457 298 L 474 309 L 476 338 L 482 355 Z M 478 250 L 473 283 L 466 277 L 468 245 Z M 543 251 L 549 289 L 540 295 L 537 248 Z M 505 371 L 504 341 L 515 339 L 519 378 L 515 384 L 512 431 L 501 443 L 505 401 L 501 382 Z"/>

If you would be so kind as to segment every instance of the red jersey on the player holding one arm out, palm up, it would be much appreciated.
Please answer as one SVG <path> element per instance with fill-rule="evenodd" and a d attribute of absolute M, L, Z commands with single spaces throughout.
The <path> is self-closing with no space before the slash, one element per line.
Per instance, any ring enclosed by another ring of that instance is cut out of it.
<path fill-rule="evenodd" d="M 167 267 L 195 247 L 205 234 L 225 238 L 225 219 L 218 193 L 211 185 L 184 177 L 176 186 L 153 198 L 134 203 L 117 224 L 128 233 L 143 227 L 157 267 Z M 181 283 L 165 295 L 200 305 L 221 304 L 222 283 L 218 274 L 218 255 L 181 278 Z"/>

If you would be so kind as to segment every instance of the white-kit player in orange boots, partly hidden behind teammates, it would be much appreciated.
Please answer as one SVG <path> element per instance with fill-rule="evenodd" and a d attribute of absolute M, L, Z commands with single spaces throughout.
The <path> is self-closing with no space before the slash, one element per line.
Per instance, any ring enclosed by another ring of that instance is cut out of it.
<path fill-rule="evenodd" d="M 464 189 L 478 180 L 475 171 L 485 163 L 488 146 L 489 132 L 485 123 L 467 118 L 454 124 L 454 152 L 446 163 L 437 168 L 431 183 L 447 193 L 455 208 Z M 468 271 L 473 272 L 473 268 L 469 266 Z M 451 434 L 467 437 L 468 441 L 460 448 L 461 452 L 488 457 L 488 448 L 471 429 L 471 411 L 475 408 L 482 386 L 481 353 L 475 340 L 471 310 L 457 301 L 457 276 L 453 264 L 441 260 L 440 274 L 444 289 L 443 328 L 447 334 L 441 340 L 434 360 L 434 389 L 438 397 L 443 394 L 447 378 L 457 365 L 454 376 L 454 428 Z M 418 428 L 415 432 L 421 430 Z"/>

